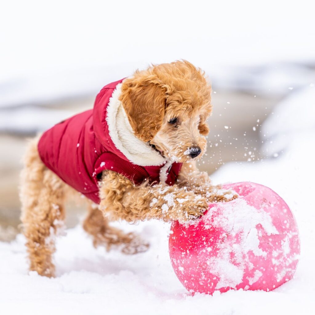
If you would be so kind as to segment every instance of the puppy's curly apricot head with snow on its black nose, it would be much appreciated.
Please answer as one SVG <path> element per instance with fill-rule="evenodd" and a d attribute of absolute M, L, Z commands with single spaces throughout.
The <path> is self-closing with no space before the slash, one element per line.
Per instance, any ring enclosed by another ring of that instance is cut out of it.
<path fill-rule="evenodd" d="M 206 150 L 210 89 L 204 72 L 184 60 L 136 71 L 124 80 L 120 100 L 136 137 L 188 162 Z"/>

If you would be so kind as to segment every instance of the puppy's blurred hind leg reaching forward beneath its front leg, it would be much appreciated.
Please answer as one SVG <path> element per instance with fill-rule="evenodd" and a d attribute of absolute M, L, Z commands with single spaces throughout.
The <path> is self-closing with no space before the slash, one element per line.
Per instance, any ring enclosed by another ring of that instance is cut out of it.
<path fill-rule="evenodd" d="M 89 206 L 89 214 L 83 222 L 83 228 L 92 235 L 95 248 L 105 246 L 107 250 L 110 250 L 112 246 L 119 246 L 122 247 L 121 250 L 124 254 L 136 254 L 149 248 L 149 244 L 144 243 L 135 233 L 126 234 L 122 230 L 110 226 L 95 204 Z"/>

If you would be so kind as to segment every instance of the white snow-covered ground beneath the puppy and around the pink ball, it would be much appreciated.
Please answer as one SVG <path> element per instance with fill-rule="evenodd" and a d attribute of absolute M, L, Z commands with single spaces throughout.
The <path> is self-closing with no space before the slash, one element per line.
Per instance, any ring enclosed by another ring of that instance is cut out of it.
<path fill-rule="evenodd" d="M 151 242 L 143 254 L 94 249 L 80 226 L 59 238 L 57 277 L 27 271 L 24 238 L 0 243 L 0 305 L 3 314 L 311 314 L 315 309 L 315 211 L 312 203 L 315 145 L 315 88 L 307 86 L 282 101 L 262 126 L 270 159 L 230 163 L 217 182 L 254 181 L 282 196 L 298 221 L 301 259 L 294 279 L 272 292 L 229 291 L 190 296 L 168 256 L 169 225 L 136 226 Z M 286 141 L 284 141 L 286 139 Z M 117 225 L 119 225 L 117 223 Z"/>

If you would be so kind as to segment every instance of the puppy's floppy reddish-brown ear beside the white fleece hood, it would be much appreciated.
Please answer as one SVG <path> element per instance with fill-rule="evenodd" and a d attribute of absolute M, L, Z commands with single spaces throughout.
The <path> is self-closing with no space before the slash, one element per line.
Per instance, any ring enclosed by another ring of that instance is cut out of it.
<path fill-rule="evenodd" d="M 162 125 L 166 108 L 165 89 L 154 76 L 126 79 L 121 100 L 135 136 L 150 141 Z"/>

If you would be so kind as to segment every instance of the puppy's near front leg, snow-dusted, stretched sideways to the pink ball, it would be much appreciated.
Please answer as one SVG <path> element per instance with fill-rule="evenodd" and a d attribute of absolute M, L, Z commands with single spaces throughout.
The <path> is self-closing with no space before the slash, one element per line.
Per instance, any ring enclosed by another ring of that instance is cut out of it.
<path fill-rule="evenodd" d="M 206 198 L 177 185 L 135 186 L 123 175 L 104 173 L 100 183 L 100 209 L 111 220 L 186 221 L 197 218 L 208 208 Z"/>

